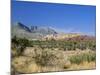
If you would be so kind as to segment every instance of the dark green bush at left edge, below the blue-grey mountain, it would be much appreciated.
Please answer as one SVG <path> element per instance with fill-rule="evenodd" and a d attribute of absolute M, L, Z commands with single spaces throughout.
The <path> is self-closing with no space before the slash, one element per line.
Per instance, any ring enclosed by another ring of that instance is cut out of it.
<path fill-rule="evenodd" d="M 12 56 L 21 55 L 26 47 L 31 47 L 32 41 L 14 36 L 11 39 Z"/>

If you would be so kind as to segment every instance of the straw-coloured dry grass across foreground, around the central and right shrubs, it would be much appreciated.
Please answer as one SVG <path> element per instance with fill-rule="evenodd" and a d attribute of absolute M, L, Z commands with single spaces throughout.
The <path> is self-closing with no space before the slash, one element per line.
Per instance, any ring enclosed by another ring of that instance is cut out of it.
<path fill-rule="evenodd" d="M 55 51 L 57 53 L 57 51 Z M 52 71 L 66 71 L 66 70 L 82 70 L 82 69 L 95 69 L 95 61 L 91 61 L 91 62 L 81 62 L 79 64 L 75 64 L 75 63 L 71 63 L 68 60 L 68 57 L 70 56 L 74 56 L 74 55 L 79 55 L 79 54 L 83 54 L 83 53 L 95 53 L 93 51 L 90 50 L 85 50 L 85 51 L 64 51 L 63 56 L 59 55 L 61 54 L 61 52 L 59 53 L 54 53 L 57 55 L 57 57 L 61 57 L 60 60 L 58 61 L 60 63 L 61 66 L 59 65 L 54 65 L 54 66 L 41 66 L 38 65 L 35 62 L 35 59 L 32 58 L 31 56 L 18 56 L 12 59 L 12 65 L 14 67 L 14 69 L 18 72 L 18 73 L 36 73 L 36 72 L 52 72 Z M 53 62 L 53 61 L 50 61 Z M 66 63 L 63 63 L 66 62 Z M 53 62 L 56 63 L 56 62 Z"/>

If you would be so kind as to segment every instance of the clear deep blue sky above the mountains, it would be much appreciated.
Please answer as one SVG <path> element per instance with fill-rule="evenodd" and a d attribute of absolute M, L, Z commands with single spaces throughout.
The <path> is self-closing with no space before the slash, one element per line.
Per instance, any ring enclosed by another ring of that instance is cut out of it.
<path fill-rule="evenodd" d="M 51 27 L 58 32 L 95 35 L 96 7 L 12 1 L 12 22 Z"/>

